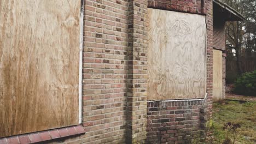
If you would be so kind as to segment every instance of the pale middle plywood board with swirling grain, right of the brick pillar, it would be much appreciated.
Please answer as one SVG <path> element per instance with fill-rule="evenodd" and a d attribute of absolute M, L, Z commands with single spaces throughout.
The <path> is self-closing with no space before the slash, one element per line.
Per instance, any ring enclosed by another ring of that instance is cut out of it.
<path fill-rule="evenodd" d="M 148 100 L 205 97 L 205 16 L 148 9 Z"/>

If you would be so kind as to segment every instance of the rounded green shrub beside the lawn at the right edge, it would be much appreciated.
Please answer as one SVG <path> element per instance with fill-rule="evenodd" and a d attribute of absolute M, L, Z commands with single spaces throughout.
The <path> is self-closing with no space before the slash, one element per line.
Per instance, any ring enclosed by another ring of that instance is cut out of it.
<path fill-rule="evenodd" d="M 237 94 L 256 96 L 256 70 L 238 77 L 235 82 L 234 92 Z"/>

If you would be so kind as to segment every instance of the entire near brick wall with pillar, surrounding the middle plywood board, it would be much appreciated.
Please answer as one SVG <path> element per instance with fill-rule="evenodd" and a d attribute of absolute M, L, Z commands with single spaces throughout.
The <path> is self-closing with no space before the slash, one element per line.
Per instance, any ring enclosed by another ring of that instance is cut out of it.
<path fill-rule="evenodd" d="M 206 15 L 207 97 L 147 102 L 147 7 Z M 212 113 L 212 0 L 85 0 L 83 126 L 52 143 L 183 143 Z"/>

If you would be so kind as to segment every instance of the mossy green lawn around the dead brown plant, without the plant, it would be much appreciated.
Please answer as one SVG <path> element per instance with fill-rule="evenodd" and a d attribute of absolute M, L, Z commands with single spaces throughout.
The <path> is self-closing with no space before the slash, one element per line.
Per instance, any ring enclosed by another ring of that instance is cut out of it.
<path fill-rule="evenodd" d="M 236 143 L 256 143 L 256 102 L 224 100 L 213 103 L 214 143 L 225 139 L 224 123 L 239 123 Z"/>

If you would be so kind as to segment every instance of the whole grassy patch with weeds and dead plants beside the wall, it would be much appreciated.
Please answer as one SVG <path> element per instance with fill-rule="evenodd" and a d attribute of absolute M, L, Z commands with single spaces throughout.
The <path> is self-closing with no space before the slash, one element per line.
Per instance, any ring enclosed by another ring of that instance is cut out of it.
<path fill-rule="evenodd" d="M 212 120 L 205 137 L 194 137 L 193 144 L 256 143 L 256 101 L 223 100 L 213 104 Z"/>

